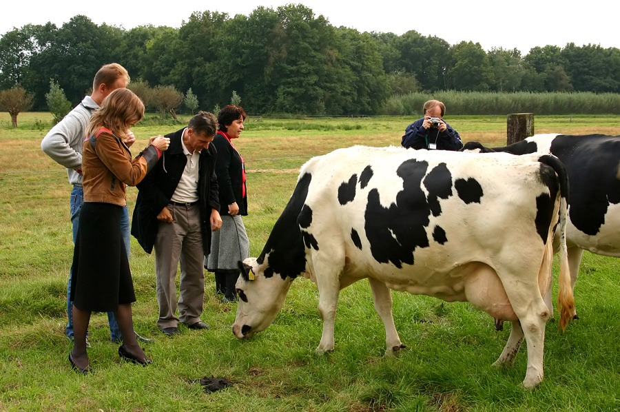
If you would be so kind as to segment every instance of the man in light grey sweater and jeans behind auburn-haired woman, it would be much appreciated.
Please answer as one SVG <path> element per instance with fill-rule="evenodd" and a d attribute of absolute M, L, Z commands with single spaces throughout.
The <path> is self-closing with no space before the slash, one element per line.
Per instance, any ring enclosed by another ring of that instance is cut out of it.
<path fill-rule="evenodd" d="M 77 231 L 79 228 L 80 209 L 84 198 L 82 189 L 82 143 L 84 142 L 85 130 L 90 121 L 92 113 L 99 108 L 105 97 L 112 91 L 127 87 L 130 76 L 127 70 L 118 63 L 103 65 L 95 74 L 92 82 L 92 94 L 85 96 L 82 102 L 74 107 L 74 109 L 65 116 L 58 124 L 52 127 L 41 141 L 41 150 L 45 152 L 56 163 L 67 168 L 69 183 L 73 185 L 70 199 L 71 223 L 73 226 L 73 242 L 75 243 Z M 134 135 L 130 132 L 130 138 L 125 142 L 127 146 L 132 145 L 136 141 Z M 123 209 L 121 217 L 121 231 L 123 232 L 123 242 L 127 250 L 127 258 L 130 254 L 130 220 L 127 207 Z M 67 337 L 73 339 L 73 318 L 72 308 L 73 302 L 69 300 L 69 291 L 71 289 L 71 273 L 69 274 L 69 285 L 67 288 Z M 107 318 L 110 322 L 110 338 L 114 342 L 121 341 L 121 331 L 118 329 L 114 313 L 108 312 Z M 151 341 L 143 338 L 136 333 L 138 340 L 144 342 Z"/>

